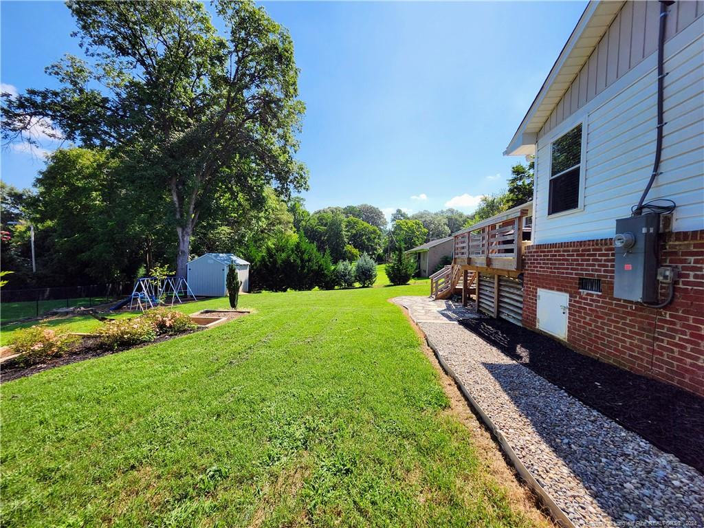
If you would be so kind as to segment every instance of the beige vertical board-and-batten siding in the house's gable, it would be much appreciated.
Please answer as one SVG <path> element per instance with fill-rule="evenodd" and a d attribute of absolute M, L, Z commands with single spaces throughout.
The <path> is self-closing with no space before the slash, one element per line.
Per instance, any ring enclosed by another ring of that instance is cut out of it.
<path fill-rule="evenodd" d="M 700 24 L 704 23 L 704 0 L 679 0 L 669 9 L 665 30 L 668 40 L 696 20 Z M 659 20 L 658 0 L 627 1 L 553 109 L 538 137 L 548 134 L 645 58 L 658 51 Z"/>

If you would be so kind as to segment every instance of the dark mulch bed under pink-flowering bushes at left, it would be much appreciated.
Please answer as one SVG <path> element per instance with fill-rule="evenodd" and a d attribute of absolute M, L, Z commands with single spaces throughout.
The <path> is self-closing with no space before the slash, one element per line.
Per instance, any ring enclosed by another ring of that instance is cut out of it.
<path fill-rule="evenodd" d="M 14 359 L 5 361 L 0 366 L 0 383 L 11 382 L 13 379 L 31 376 L 39 372 L 44 372 L 44 370 L 61 367 L 62 365 L 69 365 L 70 363 L 78 363 L 79 361 L 99 358 L 101 356 L 108 356 L 109 354 L 130 350 L 131 348 L 142 348 L 143 346 L 161 343 L 161 341 L 168 341 L 169 339 L 174 339 L 175 337 L 180 337 L 186 334 L 192 334 L 193 332 L 196 331 L 190 330 L 189 332 L 183 332 L 182 334 L 163 335 L 159 336 L 154 341 L 149 341 L 149 343 L 142 343 L 133 346 L 122 346 L 118 348 L 105 348 L 101 345 L 100 340 L 98 338 L 84 337 L 83 339 L 81 339 L 80 343 L 77 344 L 74 348 L 72 348 L 71 351 L 65 356 L 50 359 L 45 361 L 44 363 L 37 363 L 37 365 L 24 366 L 18 365 L 18 363 L 16 363 Z"/>

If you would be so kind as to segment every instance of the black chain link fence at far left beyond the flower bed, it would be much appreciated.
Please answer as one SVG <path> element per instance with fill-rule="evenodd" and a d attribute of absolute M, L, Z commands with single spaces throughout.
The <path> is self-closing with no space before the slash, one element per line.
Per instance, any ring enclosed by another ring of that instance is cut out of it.
<path fill-rule="evenodd" d="M 61 308 L 91 308 L 116 303 L 132 293 L 132 282 L 0 290 L 0 321 L 11 322 Z"/>

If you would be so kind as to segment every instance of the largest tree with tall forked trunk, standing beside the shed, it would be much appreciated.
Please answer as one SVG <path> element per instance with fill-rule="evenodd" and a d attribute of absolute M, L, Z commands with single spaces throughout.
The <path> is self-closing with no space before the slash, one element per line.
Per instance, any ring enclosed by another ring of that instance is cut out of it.
<path fill-rule="evenodd" d="M 251 1 L 216 0 L 224 34 L 199 2 L 68 2 L 84 58 L 47 71 L 60 87 L 3 96 L 6 141 L 32 126 L 109 148 L 133 184 L 168 198 L 185 275 L 191 236 L 220 196 L 265 203 L 307 185 L 296 161 L 304 106 L 287 30 Z M 31 139 L 28 139 L 32 141 Z"/>

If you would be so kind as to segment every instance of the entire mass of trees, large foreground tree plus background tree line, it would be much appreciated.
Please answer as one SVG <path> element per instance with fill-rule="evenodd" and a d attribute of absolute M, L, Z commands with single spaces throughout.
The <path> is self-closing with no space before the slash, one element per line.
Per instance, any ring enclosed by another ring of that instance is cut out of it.
<path fill-rule="evenodd" d="M 130 281 L 168 263 L 185 275 L 205 252 L 256 264 L 277 244 L 310 243 L 333 265 L 379 261 L 477 217 L 397 210 L 387 225 L 369 204 L 309 213 L 293 196 L 308 189 L 293 42 L 252 1 L 215 0 L 222 31 L 197 2 L 67 7 L 82 56 L 46 68 L 56 88 L 1 94 L 5 144 L 38 146 L 39 129 L 65 145 L 33 191 L 1 189 L 11 287 Z"/>

